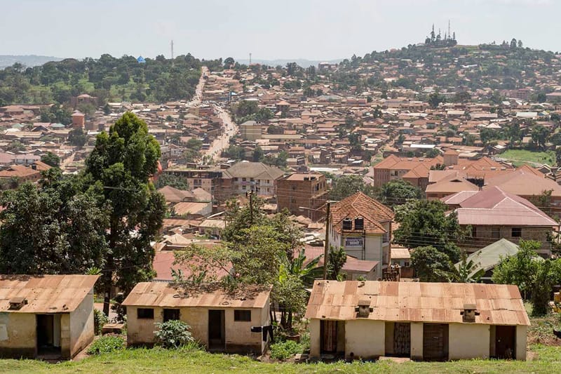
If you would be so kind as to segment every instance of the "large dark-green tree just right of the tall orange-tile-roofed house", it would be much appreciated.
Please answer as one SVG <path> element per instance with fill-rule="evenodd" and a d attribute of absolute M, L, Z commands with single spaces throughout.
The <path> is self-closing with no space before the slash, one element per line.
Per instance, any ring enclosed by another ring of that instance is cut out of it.
<path fill-rule="evenodd" d="M 459 261 L 456 245 L 466 235 L 458 223 L 456 213 L 447 213 L 447 206 L 438 200 L 412 200 L 396 206 L 396 221 L 400 227 L 394 232 L 394 242 L 407 248 L 433 246 L 445 253 L 450 261 Z"/>

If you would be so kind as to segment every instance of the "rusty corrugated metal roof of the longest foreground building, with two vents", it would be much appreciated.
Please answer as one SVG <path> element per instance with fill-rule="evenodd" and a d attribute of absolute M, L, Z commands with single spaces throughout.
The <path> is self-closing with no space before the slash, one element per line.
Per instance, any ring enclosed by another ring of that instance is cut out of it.
<path fill-rule="evenodd" d="M 367 319 L 463 323 L 465 304 L 475 304 L 475 323 L 527 325 L 530 322 L 517 286 L 482 283 L 316 281 L 306 318 L 356 319 L 358 300 L 370 300 Z"/>

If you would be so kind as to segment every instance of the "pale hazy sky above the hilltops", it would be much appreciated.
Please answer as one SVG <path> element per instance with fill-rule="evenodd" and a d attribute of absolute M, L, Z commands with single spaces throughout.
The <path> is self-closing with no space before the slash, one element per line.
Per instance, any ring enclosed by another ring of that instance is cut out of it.
<path fill-rule="evenodd" d="M 424 41 L 561 51 L 561 0 L 0 0 L 0 55 L 348 58 Z M 438 31 L 437 31 L 438 32 Z"/>

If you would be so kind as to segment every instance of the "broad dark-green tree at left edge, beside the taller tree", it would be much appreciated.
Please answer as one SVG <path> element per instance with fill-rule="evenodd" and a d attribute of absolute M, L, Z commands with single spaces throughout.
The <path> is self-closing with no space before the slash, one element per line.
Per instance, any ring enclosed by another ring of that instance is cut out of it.
<path fill-rule="evenodd" d="M 81 192 L 58 168 L 43 175 L 41 187 L 25 183 L 0 198 L 0 272 L 84 274 L 103 267 L 108 217 L 100 190 Z"/>

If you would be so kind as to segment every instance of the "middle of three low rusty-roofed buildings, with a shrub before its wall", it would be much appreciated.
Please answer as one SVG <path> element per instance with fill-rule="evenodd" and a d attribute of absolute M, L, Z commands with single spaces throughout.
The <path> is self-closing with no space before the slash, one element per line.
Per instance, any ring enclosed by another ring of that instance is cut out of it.
<path fill-rule="evenodd" d="M 263 354 L 268 338 L 252 327 L 269 326 L 270 289 L 186 292 L 173 283 L 138 283 L 123 302 L 127 308 L 127 343 L 153 345 L 155 323 L 180 320 L 210 351 Z"/>

